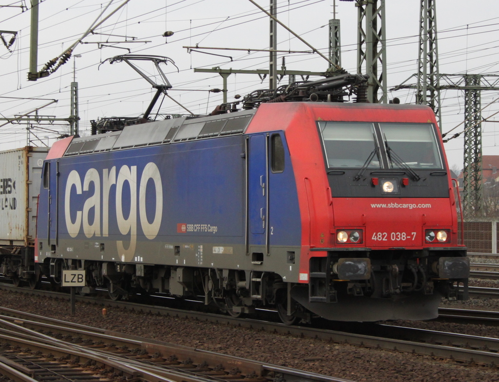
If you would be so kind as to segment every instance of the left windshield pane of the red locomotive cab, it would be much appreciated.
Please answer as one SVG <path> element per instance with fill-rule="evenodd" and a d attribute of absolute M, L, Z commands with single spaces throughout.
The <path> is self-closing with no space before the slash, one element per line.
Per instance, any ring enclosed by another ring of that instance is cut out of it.
<path fill-rule="evenodd" d="M 376 149 L 372 123 L 320 121 L 318 124 L 328 167 L 362 167 Z M 366 167 L 380 167 L 377 152 Z"/>

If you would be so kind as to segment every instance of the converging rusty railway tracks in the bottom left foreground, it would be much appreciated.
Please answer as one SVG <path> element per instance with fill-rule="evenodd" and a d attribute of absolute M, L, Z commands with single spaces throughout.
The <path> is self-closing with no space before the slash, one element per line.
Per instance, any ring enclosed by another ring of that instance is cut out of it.
<path fill-rule="evenodd" d="M 50 380 L 89 382 L 117 376 L 138 382 L 348 382 L 10 309 L 0 312 L 0 365 L 9 357 L 4 365 L 37 381 L 49 369 Z M 37 369 L 30 371 L 26 363 Z"/>

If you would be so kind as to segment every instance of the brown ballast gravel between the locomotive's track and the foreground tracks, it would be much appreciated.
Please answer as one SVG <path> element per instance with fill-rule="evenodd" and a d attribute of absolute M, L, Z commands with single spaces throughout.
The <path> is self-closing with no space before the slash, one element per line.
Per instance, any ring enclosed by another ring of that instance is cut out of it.
<path fill-rule="evenodd" d="M 461 305 L 466 304 L 467 308 L 473 308 L 482 301 L 473 299 Z M 491 304 L 494 302 L 495 309 L 499 310 L 497 301 L 489 301 Z M 264 333 L 254 329 L 144 314 L 119 308 L 108 307 L 107 315 L 103 316 L 102 307 L 94 304 L 77 302 L 76 315 L 71 316 L 67 300 L 21 295 L 5 290 L 0 293 L 0 305 L 83 325 L 357 382 L 499 381 L 499 369 L 496 367 Z M 481 306 L 477 308 L 482 309 Z M 397 324 L 499 338 L 499 329 L 495 327 L 409 321 Z"/>

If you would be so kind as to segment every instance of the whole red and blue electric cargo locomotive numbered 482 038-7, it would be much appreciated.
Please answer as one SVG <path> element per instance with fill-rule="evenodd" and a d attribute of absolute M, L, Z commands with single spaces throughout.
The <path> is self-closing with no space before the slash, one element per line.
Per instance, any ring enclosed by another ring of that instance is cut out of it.
<path fill-rule="evenodd" d="M 273 307 L 286 324 L 435 318 L 470 269 L 440 131 L 426 106 L 362 102 L 363 81 L 57 141 L 16 277 L 85 270 L 81 293 Z"/>

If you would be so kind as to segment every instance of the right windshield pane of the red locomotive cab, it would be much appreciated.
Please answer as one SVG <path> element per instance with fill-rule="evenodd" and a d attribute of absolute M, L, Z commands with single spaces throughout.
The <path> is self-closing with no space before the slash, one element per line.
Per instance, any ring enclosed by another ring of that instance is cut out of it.
<path fill-rule="evenodd" d="M 411 168 L 443 168 L 432 124 L 380 124 L 390 168 L 399 168 L 396 157 Z M 395 153 L 395 158 L 390 155 Z"/>

